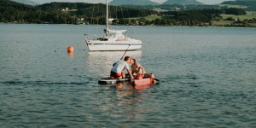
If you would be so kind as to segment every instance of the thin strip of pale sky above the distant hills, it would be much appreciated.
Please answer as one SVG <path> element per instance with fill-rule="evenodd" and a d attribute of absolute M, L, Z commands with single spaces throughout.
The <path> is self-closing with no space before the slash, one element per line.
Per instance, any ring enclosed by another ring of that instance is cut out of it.
<path fill-rule="evenodd" d="M 83 2 L 83 3 L 105 3 L 106 0 L 32 0 L 33 2 L 36 3 L 50 3 L 50 2 Z M 111 0 L 108 0 L 111 1 Z M 152 2 L 156 3 L 164 3 L 166 0 L 151 0 Z M 197 0 L 201 3 L 205 4 L 217 4 L 217 3 L 222 3 L 224 1 L 229 1 L 229 0 Z"/>

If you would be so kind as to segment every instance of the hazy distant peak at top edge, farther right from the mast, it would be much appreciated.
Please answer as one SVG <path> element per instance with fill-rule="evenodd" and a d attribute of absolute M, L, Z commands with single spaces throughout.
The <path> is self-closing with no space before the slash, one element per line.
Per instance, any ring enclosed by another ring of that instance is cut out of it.
<path fill-rule="evenodd" d="M 200 3 L 196 0 L 167 0 L 162 4 L 179 4 L 179 5 L 204 5 L 204 3 Z"/>

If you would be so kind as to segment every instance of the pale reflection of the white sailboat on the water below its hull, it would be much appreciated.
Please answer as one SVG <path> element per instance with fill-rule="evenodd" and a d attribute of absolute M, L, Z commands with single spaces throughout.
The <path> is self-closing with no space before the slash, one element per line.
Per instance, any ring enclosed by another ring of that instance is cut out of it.
<path fill-rule="evenodd" d="M 125 54 L 125 55 L 124 55 Z M 138 61 L 142 58 L 142 51 L 94 51 L 88 52 L 86 66 L 90 69 L 90 73 L 99 74 L 100 77 L 108 77 L 110 69 L 114 62 L 119 61 L 122 56 L 131 56 Z"/>

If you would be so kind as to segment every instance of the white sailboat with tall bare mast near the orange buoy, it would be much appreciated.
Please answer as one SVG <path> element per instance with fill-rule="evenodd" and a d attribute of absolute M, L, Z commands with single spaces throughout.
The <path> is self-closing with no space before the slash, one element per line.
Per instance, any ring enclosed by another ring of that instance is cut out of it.
<path fill-rule="evenodd" d="M 108 0 L 106 0 L 107 15 L 106 28 L 102 38 L 85 35 L 85 42 L 90 51 L 136 50 L 142 48 L 142 41 L 126 37 L 127 30 L 113 30 L 108 28 Z"/>

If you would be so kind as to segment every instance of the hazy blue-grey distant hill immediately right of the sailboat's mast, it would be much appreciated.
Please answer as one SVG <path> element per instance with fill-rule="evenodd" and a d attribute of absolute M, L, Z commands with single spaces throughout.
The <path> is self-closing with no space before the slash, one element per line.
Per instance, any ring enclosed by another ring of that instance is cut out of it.
<path fill-rule="evenodd" d="M 159 5 L 160 3 L 154 3 L 150 0 L 113 0 L 110 5 Z"/>

